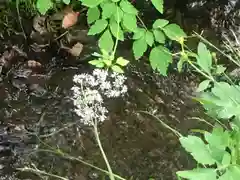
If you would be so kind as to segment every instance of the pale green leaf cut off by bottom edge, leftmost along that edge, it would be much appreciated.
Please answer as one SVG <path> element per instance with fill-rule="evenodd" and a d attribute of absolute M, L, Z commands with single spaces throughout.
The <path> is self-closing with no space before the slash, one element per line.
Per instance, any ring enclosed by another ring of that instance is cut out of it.
<path fill-rule="evenodd" d="M 217 180 L 217 172 L 213 168 L 198 168 L 189 171 L 178 171 L 177 175 L 190 180 Z"/>

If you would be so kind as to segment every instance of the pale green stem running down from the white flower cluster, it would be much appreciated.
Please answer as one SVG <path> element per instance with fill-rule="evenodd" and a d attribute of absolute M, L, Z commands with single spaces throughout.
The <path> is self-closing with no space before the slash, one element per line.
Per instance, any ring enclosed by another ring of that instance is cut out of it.
<path fill-rule="evenodd" d="M 99 149 L 100 149 L 100 151 L 102 153 L 102 156 L 103 156 L 103 159 L 104 159 L 104 161 L 105 161 L 105 163 L 107 165 L 107 169 L 108 169 L 108 172 L 109 172 L 109 177 L 110 177 L 111 180 L 115 180 L 115 178 L 113 176 L 112 168 L 111 168 L 111 166 L 110 166 L 110 164 L 108 162 L 107 156 L 106 156 L 106 154 L 105 154 L 105 152 L 103 150 L 102 143 L 101 143 L 100 138 L 99 138 L 98 129 L 97 129 L 97 123 L 95 123 L 93 128 L 94 128 L 94 135 L 95 135 L 95 138 L 97 140 Z"/>

